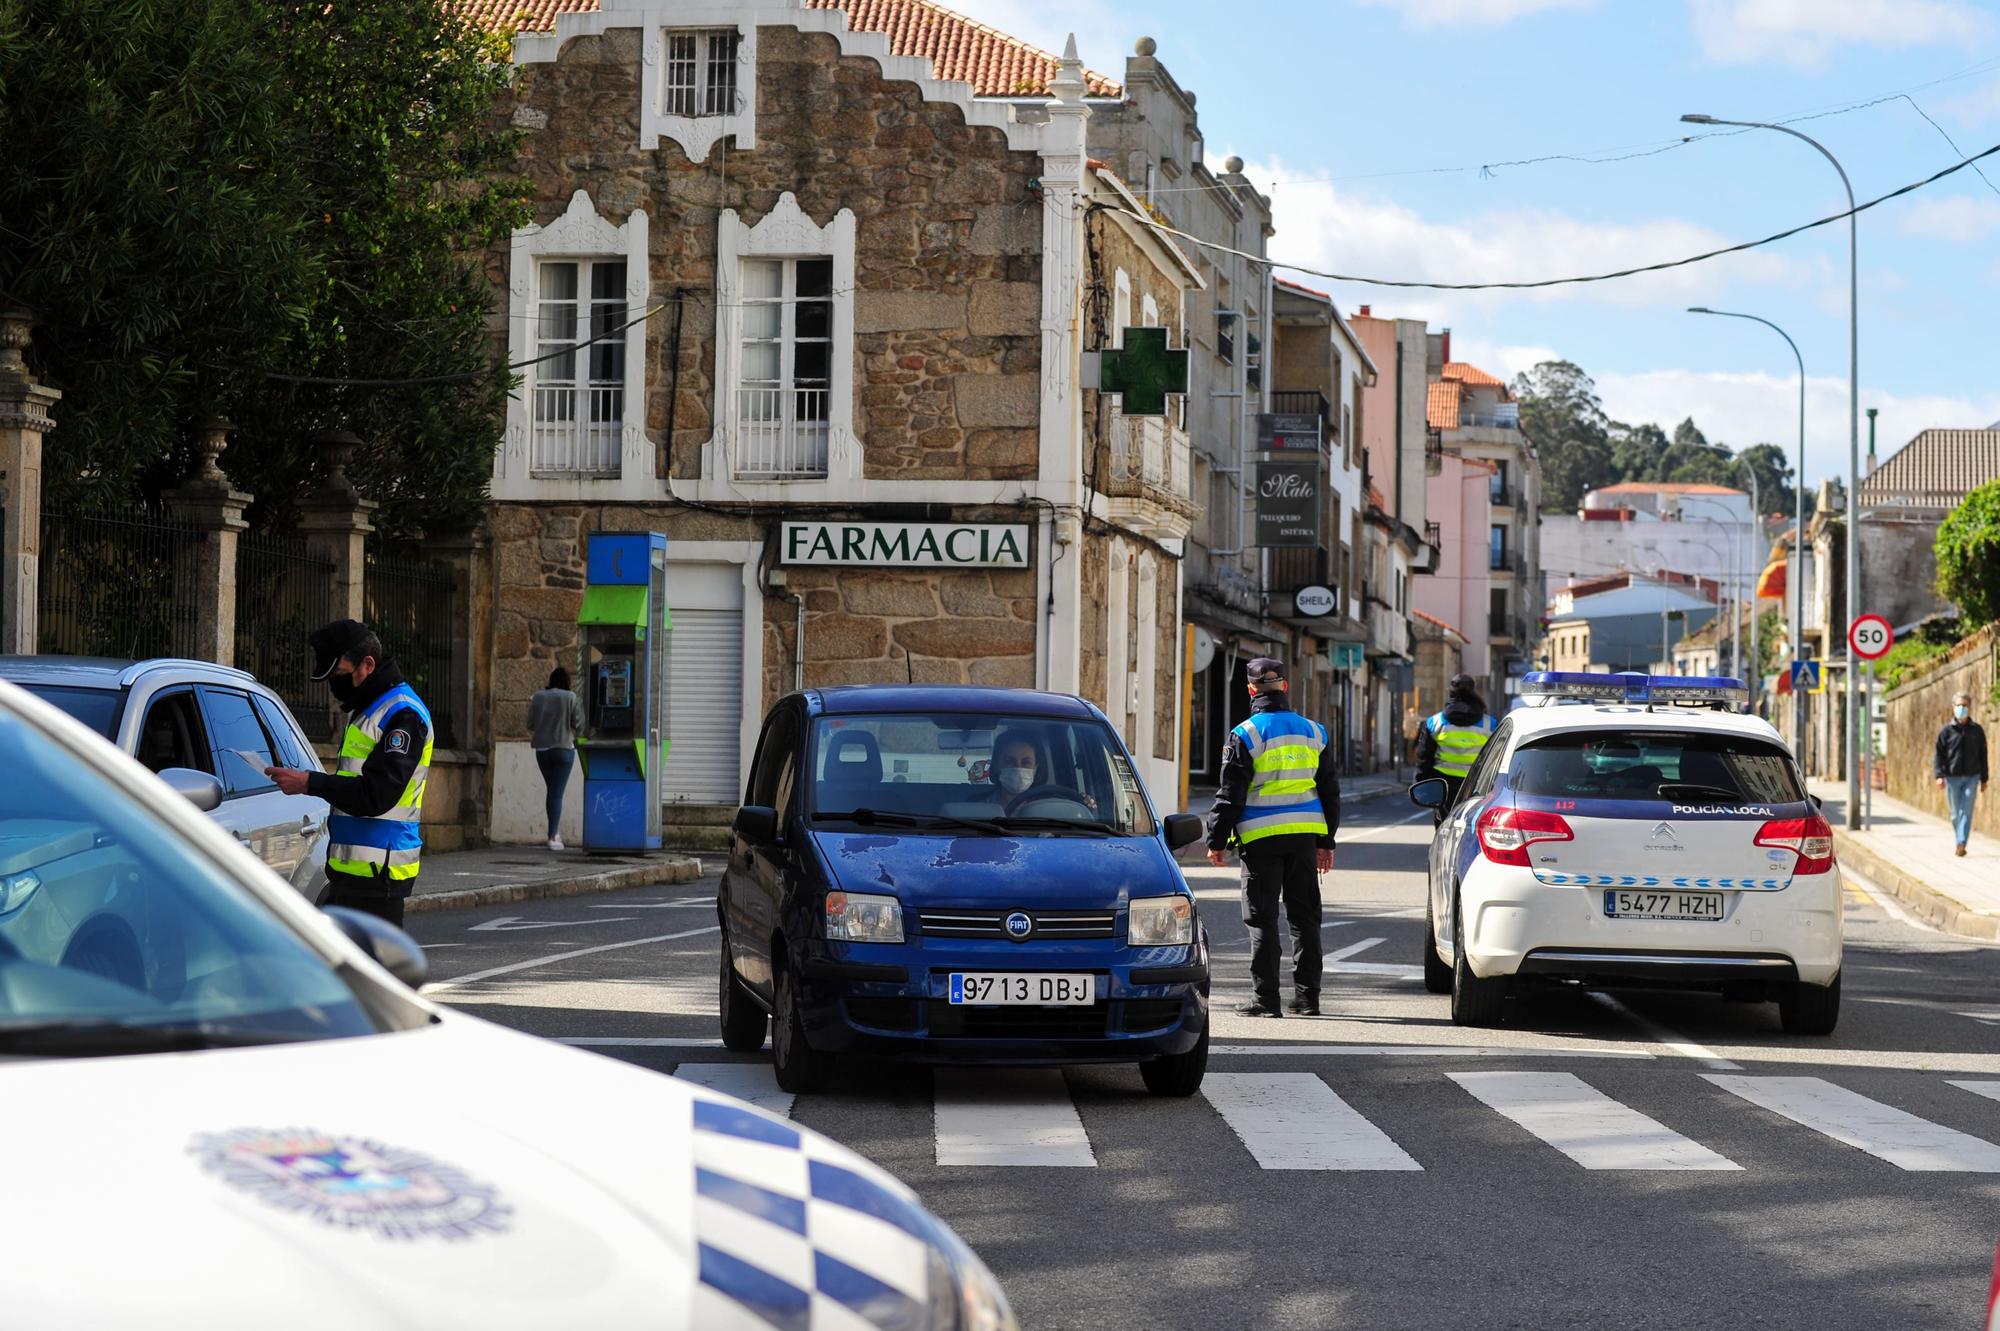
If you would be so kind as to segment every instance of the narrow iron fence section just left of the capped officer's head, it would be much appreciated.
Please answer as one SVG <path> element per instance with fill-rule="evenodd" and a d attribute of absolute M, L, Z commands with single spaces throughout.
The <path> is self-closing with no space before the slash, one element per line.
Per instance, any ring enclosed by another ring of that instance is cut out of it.
<path fill-rule="evenodd" d="M 300 538 L 236 538 L 236 664 L 278 693 L 316 741 L 334 735 L 332 695 L 312 679 L 306 636 L 334 618 L 330 556 Z"/>

